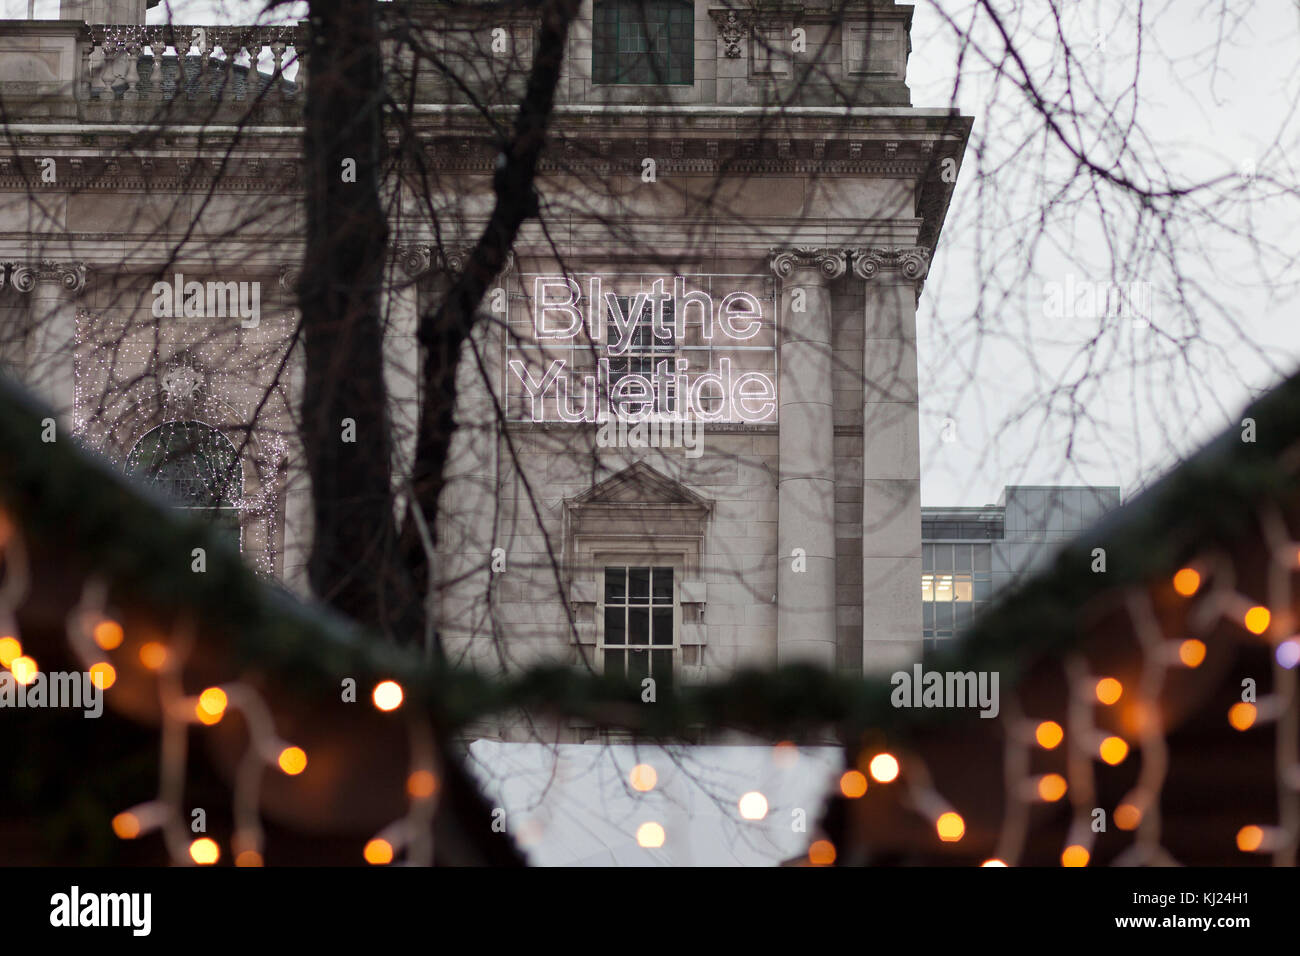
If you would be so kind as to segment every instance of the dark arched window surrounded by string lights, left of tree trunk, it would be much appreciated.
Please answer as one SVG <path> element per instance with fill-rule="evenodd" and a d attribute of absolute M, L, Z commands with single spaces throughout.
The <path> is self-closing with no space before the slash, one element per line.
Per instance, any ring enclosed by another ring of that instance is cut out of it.
<path fill-rule="evenodd" d="M 202 421 L 165 421 L 148 432 L 126 457 L 126 473 L 152 485 L 177 507 L 217 524 L 239 548 L 243 470 L 226 436 Z"/>

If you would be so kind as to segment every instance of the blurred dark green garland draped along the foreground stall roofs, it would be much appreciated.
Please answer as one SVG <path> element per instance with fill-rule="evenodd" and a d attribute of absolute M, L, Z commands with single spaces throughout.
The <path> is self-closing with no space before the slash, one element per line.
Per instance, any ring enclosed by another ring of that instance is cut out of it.
<path fill-rule="evenodd" d="M 1195 553 L 1251 533 L 1261 502 L 1295 501 L 1296 479 L 1280 466 L 1300 440 L 1300 376 L 1245 416 L 1254 419 L 1254 442 L 1243 441 L 1238 428 L 1222 434 L 1072 541 L 1048 571 L 1004 594 L 927 667 L 1000 671 L 1010 687 L 1035 661 L 1079 641 L 1078 611 L 1104 591 L 1167 578 Z M 677 688 L 654 705 L 641 702 L 640 688 L 576 667 L 499 678 L 438 667 L 259 579 L 211 528 L 127 484 L 74 441 L 42 441 L 47 418 L 25 392 L 0 380 L 0 502 L 32 546 L 49 542 L 75 568 L 70 572 L 103 575 L 116 601 L 162 620 L 190 615 L 202 641 L 224 643 L 238 665 L 308 698 L 333 696 L 343 678 L 361 684 L 391 678 L 412 706 L 428 709 L 443 727 L 524 709 L 663 737 L 733 727 L 797 739 L 828 724 L 905 734 L 952 717 L 946 709 L 892 708 L 885 676 L 810 667 L 745 670 Z M 207 549 L 205 574 L 190 571 L 194 548 Z M 1106 551 L 1104 574 L 1092 571 L 1095 548 Z"/>

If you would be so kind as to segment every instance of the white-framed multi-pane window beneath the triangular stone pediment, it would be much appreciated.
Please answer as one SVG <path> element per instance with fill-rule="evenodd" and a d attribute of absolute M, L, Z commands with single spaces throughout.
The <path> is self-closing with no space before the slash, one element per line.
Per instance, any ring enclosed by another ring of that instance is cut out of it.
<path fill-rule="evenodd" d="M 676 598 L 671 567 L 604 568 L 601 657 L 604 672 L 656 689 L 672 685 L 677 650 Z"/>

